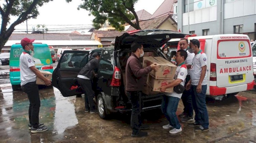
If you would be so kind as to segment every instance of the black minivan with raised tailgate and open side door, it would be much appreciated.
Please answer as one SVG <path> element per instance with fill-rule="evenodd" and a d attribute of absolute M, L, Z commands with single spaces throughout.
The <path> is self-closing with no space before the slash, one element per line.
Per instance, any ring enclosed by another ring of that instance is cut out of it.
<path fill-rule="evenodd" d="M 114 47 L 97 48 L 90 51 L 64 51 L 53 72 L 52 83 L 65 97 L 80 95 L 77 74 L 86 65 L 88 58 L 101 52 L 98 82 L 94 85 L 99 116 L 107 118 L 112 112 L 131 111 L 131 102 L 126 95 L 125 68 L 131 55 L 130 46 L 141 42 L 145 56 L 162 56 L 159 47 L 171 38 L 183 38 L 184 33 L 169 30 L 136 30 L 116 37 Z M 143 58 L 140 58 L 142 63 Z M 146 80 L 146 79 L 145 79 Z M 142 110 L 160 108 L 163 93 L 142 94 Z"/>

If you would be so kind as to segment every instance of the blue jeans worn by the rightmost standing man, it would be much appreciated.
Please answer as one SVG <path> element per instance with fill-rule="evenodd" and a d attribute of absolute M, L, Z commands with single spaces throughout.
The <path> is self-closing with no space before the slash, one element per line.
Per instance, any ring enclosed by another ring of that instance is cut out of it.
<path fill-rule="evenodd" d="M 203 128 L 209 128 L 209 117 L 205 103 L 205 93 L 207 85 L 202 85 L 201 93 L 197 93 L 197 86 L 192 85 L 192 102 L 195 110 L 195 121 L 199 123 Z"/>

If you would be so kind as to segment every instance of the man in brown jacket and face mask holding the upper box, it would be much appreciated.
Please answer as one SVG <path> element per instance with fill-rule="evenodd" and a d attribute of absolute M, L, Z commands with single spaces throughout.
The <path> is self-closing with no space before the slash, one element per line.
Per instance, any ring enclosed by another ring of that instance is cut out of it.
<path fill-rule="evenodd" d="M 140 43 L 134 42 L 131 44 L 132 54 L 126 64 L 126 91 L 130 97 L 132 104 L 131 112 L 131 137 L 144 137 L 147 132 L 142 132 L 140 129 L 148 129 L 146 125 L 141 125 L 141 93 L 143 90 L 144 79 L 143 75 L 151 70 L 158 70 L 157 64 L 152 64 L 146 68 L 142 68 L 139 58 L 143 57 L 143 46 Z"/>

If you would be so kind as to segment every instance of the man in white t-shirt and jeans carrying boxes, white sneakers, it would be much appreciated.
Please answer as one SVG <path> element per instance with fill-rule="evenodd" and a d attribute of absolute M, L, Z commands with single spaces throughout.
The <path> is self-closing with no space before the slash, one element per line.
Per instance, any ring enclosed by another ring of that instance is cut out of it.
<path fill-rule="evenodd" d="M 161 92 L 165 92 L 167 88 L 175 87 L 179 84 L 184 86 L 185 79 L 187 76 L 187 67 L 185 65 L 185 60 L 187 58 L 187 52 L 184 50 L 177 51 L 175 60 L 177 62 L 177 69 L 174 75 L 175 81 L 171 82 L 167 86 L 161 87 Z M 169 133 L 175 134 L 180 131 L 182 131 L 181 125 L 179 123 L 179 120 L 176 116 L 176 111 L 179 105 L 179 101 L 181 99 L 182 93 L 176 93 L 173 91 L 172 93 L 165 93 L 163 95 L 162 105 L 161 109 L 163 114 L 165 114 L 165 117 L 169 121 L 169 124 L 163 125 L 162 127 L 164 129 L 170 129 Z"/>

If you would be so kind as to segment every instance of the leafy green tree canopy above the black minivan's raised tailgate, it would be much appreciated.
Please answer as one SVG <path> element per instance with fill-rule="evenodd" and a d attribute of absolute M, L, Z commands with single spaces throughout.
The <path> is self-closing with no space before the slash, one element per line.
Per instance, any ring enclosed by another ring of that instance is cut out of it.
<path fill-rule="evenodd" d="M 67 2 L 71 0 L 66 0 Z M 93 25 L 100 29 L 101 25 L 109 21 L 116 30 L 124 31 L 123 24 L 128 23 L 135 29 L 141 29 L 139 18 L 134 10 L 138 0 L 83 0 L 78 9 L 83 8 L 95 16 Z M 136 19 L 136 22 L 132 20 Z"/>

